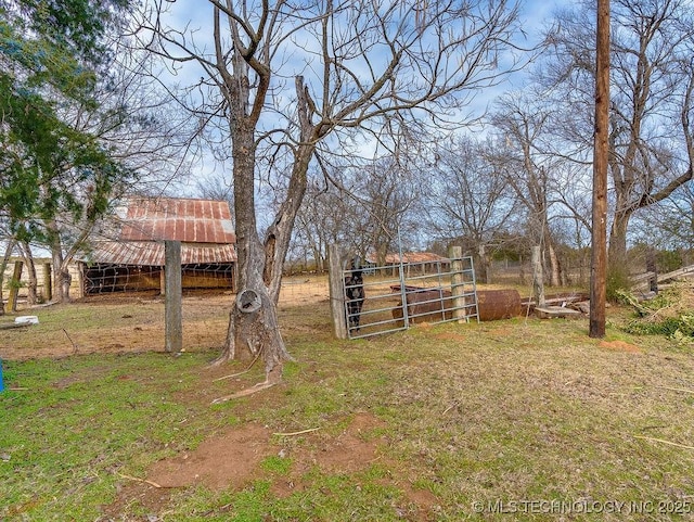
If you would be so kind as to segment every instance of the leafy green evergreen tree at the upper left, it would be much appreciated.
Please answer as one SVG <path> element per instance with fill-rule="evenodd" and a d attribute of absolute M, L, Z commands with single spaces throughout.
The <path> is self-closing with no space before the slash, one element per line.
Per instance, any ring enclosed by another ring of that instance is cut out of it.
<path fill-rule="evenodd" d="M 132 174 L 69 117 L 97 111 L 111 52 L 105 36 L 127 7 L 0 0 L 0 217 L 17 241 L 51 246 L 61 300 L 69 277 L 59 221 L 93 224 L 114 184 Z"/>

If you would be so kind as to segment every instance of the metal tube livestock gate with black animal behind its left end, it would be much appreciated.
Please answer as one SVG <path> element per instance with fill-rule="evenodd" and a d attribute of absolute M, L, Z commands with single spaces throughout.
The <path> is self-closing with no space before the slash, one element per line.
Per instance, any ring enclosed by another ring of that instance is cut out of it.
<path fill-rule="evenodd" d="M 352 259 L 344 264 L 339 281 L 347 339 L 397 332 L 417 322 L 479 320 L 472 257 L 384 266 Z"/>

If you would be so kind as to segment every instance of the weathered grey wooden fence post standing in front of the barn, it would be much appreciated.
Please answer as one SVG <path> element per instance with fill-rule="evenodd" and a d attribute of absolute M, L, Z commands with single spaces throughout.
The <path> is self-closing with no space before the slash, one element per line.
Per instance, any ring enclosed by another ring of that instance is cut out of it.
<path fill-rule="evenodd" d="M 179 353 L 183 348 L 183 289 L 181 281 L 181 242 L 165 241 L 165 321 L 166 352 Z"/>

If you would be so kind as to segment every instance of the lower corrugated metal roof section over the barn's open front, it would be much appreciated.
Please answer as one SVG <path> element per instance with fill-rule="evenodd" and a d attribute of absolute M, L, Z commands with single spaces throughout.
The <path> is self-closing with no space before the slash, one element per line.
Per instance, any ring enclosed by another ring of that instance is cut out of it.
<path fill-rule="evenodd" d="M 82 260 L 107 265 L 165 266 L 164 243 L 154 241 L 100 241 Z M 181 243 L 181 264 L 235 263 L 232 244 Z"/>

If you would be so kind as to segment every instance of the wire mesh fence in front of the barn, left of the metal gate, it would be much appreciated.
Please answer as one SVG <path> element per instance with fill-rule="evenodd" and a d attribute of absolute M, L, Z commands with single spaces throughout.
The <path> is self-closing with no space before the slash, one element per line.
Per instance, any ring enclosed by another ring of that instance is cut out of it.
<path fill-rule="evenodd" d="M 185 351 L 221 348 L 235 296 L 226 289 L 183 291 Z M 327 276 L 287 278 L 279 305 L 283 328 L 304 309 L 330 316 Z M 68 305 L 35 306 L 29 306 L 22 293 L 16 311 L 7 310 L 5 316 L 0 316 L 0 359 L 164 352 L 165 307 L 159 290 L 93 293 L 76 297 Z M 15 323 L 33 318 L 36 323 Z"/>

